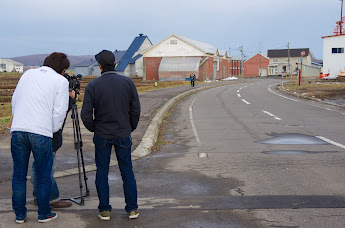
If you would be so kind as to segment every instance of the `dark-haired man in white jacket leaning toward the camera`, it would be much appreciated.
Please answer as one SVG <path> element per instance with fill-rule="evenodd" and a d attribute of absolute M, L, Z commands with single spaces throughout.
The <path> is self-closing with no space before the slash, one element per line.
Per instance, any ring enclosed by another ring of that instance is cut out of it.
<path fill-rule="evenodd" d="M 12 96 L 12 207 L 17 223 L 27 216 L 26 176 L 31 152 L 36 164 L 38 221 L 57 217 L 49 205 L 52 137 L 61 128 L 68 108 L 69 83 L 62 75 L 69 65 L 65 54 L 52 53 L 43 67 L 22 75 Z"/>

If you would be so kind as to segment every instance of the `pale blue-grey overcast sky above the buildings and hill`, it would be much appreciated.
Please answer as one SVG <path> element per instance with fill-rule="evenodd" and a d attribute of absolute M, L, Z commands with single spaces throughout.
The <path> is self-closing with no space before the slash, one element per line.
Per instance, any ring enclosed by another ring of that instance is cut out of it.
<path fill-rule="evenodd" d="M 139 33 L 171 34 L 250 58 L 260 50 L 310 48 L 322 59 L 340 0 L 2 0 L 0 58 L 53 51 L 126 50 Z M 344 13 L 345 14 L 345 13 Z"/>

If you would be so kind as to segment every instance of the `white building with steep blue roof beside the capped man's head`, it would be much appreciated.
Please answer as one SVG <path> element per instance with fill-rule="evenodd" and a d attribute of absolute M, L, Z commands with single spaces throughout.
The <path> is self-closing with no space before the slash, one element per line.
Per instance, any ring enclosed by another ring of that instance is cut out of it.
<path fill-rule="evenodd" d="M 143 77 L 142 53 L 150 47 L 152 47 L 152 43 L 147 36 L 139 34 L 139 36 L 135 37 L 126 53 L 118 62 L 116 66 L 117 73 L 127 77 Z"/>

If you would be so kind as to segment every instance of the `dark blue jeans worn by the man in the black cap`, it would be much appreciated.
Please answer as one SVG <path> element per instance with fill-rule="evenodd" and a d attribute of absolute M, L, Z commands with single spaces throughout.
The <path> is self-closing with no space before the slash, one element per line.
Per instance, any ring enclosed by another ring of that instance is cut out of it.
<path fill-rule="evenodd" d="M 109 204 L 108 174 L 111 149 L 113 146 L 115 147 L 115 154 L 123 181 L 123 191 L 126 202 L 125 210 L 131 212 L 138 209 L 137 184 L 133 173 L 131 158 L 131 137 L 129 136 L 124 139 L 104 139 L 95 135 L 93 137 L 93 142 L 95 144 L 95 160 L 97 166 L 96 188 L 99 199 L 98 210 L 102 212 L 111 211 L 112 209 Z"/>

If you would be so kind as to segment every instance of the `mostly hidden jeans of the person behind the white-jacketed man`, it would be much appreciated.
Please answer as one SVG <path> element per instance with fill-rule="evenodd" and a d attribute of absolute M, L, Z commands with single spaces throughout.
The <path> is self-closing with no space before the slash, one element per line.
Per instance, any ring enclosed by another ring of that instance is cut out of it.
<path fill-rule="evenodd" d="M 54 177 L 55 168 L 56 168 L 56 159 L 55 159 L 56 151 L 53 151 L 53 167 L 50 173 L 50 177 L 52 179 L 52 191 L 50 193 L 49 203 L 55 203 L 60 200 L 60 192 L 59 188 L 57 187 L 56 180 Z M 36 162 L 32 163 L 31 168 L 31 183 L 32 183 L 32 195 L 36 198 L 36 189 L 37 189 L 37 178 L 36 178 Z"/>

